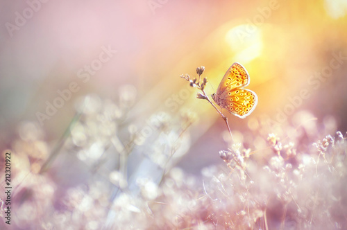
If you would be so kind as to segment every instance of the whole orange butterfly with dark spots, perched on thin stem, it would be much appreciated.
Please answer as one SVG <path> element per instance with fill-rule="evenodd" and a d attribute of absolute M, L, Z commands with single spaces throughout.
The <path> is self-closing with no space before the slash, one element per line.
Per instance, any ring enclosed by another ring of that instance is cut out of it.
<path fill-rule="evenodd" d="M 226 71 L 212 98 L 222 109 L 225 108 L 239 118 L 245 118 L 253 112 L 258 101 L 255 92 L 243 89 L 249 85 L 249 82 L 250 78 L 246 69 L 242 64 L 235 62 Z"/>

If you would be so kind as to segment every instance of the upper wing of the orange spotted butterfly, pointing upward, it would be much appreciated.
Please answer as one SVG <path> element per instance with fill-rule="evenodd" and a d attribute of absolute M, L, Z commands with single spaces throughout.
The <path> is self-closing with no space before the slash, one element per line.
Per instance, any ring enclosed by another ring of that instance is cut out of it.
<path fill-rule="evenodd" d="M 235 62 L 231 65 L 228 71 L 226 71 L 226 74 L 224 74 L 216 94 L 218 96 L 225 91 L 246 87 L 249 85 L 249 82 L 249 74 L 246 69 L 242 66 L 242 64 Z"/>

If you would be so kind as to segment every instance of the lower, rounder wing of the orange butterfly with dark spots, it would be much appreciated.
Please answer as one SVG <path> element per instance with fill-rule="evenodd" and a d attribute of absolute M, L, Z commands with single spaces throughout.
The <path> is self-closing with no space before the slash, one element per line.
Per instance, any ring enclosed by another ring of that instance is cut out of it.
<path fill-rule="evenodd" d="M 258 102 L 257 94 L 249 89 L 233 89 L 220 97 L 223 98 L 223 107 L 239 118 L 251 114 Z"/>

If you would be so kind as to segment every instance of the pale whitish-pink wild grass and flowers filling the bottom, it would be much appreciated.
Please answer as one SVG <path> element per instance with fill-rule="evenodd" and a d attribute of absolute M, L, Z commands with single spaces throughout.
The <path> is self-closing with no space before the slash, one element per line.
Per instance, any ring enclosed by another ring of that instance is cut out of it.
<path fill-rule="evenodd" d="M 194 114 L 135 123 L 134 98 L 87 96 L 55 144 L 19 125 L 6 150 L 12 224 L 1 218 L 1 229 L 347 229 L 346 134 L 326 134 L 308 112 L 295 127 L 257 118 L 243 142 L 211 152 L 220 165 L 189 175 L 176 163 Z"/>

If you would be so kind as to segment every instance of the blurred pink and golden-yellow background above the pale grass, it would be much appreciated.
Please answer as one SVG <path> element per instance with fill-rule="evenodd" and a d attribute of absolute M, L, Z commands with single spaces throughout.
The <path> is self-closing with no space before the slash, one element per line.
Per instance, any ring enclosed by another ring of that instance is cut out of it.
<path fill-rule="evenodd" d="M 28 0 L 1 5 L 0 144 L 20 152 L 15 140 L 44 141 L 47 149 L 36 161 L 37 172 L 59 140 L 71 137 L 65 131 L 78 120 L 80 105 L 90 109 L 84 114 L 111 107 L 121 125 L 108 140 L 117 136 L 121 143 L 132 133 L 157 132 L 152 120 L 163 113 L 173 138 L 183 137 L 174 164 L 198 174 L 221 163 L 218 152 L 229 146 L 225 123 L 180 78 L 185 73 L 196 77 L 201 65 L 207 94 L 217 90 L 233 62 L 251 76 L 247 88 L 259 98 L 253 114 L 244 119 L 226 114 L 236 141 L 245 141 L 264 121 L 301 125 L 305 118 L 291 120 L 298 112 L 332 132 L 347 130 L 346 0 Z M 105 129 L 97 123 L 94 128 Z M 81 156 L 58 154 L 53 166 L 58 170 L 79 161 Z"/>

